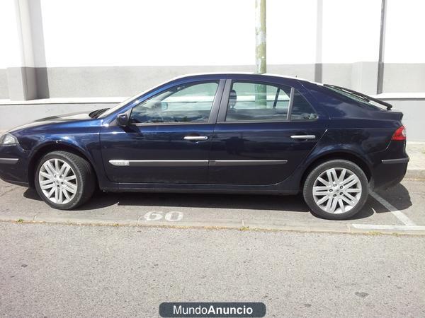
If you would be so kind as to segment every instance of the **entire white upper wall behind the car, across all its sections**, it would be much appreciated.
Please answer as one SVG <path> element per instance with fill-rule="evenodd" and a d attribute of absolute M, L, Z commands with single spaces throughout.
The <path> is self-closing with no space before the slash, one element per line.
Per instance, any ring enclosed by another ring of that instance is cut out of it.
<path fill-rule="evenodd" d="M 0 69 L 23 64 L 14 2 L 0 1 Z M 268 64 L 377 61 L 380 4 L 268 0 Z M 254 0 L 41 0 L 41 10 L 46 62 L 35 66 L 254 64 Z M 424 12 L 423 0 L 387 1 L 385 62 L 425 62 Z"/>

